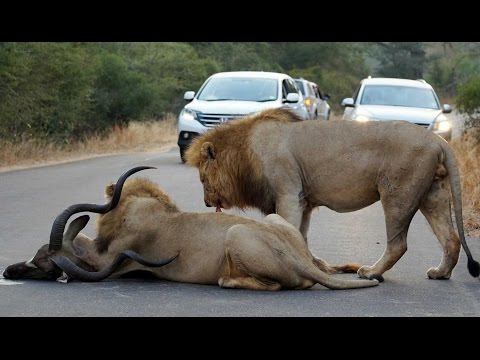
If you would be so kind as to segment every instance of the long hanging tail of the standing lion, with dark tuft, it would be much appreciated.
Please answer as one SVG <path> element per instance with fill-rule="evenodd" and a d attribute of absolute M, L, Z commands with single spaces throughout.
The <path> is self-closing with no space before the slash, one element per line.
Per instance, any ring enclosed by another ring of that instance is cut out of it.
<path fill-rule="evenodd" d="M 450 177 L 450 187 L 453 199 L 453 211 L 455 213 L 455 221 L 457 224 L 458 236 L 462 243 L 463 250 L 468 258 L 468 271 L 473 277 L 480 275 L 480 264 L 472 257 L 472 253 L 465 241 L 465 233 L 463 230 L 463 214 L 462 214 L 462 189 L 460 185 L 460 172 L 458 171 L 457 160 L 453 151 L 446 142 L 442 142 L 443 153 L 445 154 L 445 166 Z"/>

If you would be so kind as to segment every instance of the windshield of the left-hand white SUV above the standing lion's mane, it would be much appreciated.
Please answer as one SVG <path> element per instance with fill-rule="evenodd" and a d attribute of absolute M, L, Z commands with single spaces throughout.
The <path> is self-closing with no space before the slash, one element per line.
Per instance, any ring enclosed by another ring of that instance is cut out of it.
<path fill-rule="evenodd" d="M 278 97 L 277 80 L 264 78 L 213 78 L 204 86 L 198 100 L 274 101 Z"/>

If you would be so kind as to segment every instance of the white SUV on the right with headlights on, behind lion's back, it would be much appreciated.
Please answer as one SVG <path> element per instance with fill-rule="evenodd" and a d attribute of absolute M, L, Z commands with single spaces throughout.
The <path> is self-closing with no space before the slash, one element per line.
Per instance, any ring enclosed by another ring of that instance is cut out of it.
<path fill-rule="evenodd" d="M 433 88 L 425 80 L 395 78 L 363 79 L 353 98 L 343 99 L 343 120 L 405 120 L 442 136 L 452 137 L 450 105 L 440 105 Z"/>

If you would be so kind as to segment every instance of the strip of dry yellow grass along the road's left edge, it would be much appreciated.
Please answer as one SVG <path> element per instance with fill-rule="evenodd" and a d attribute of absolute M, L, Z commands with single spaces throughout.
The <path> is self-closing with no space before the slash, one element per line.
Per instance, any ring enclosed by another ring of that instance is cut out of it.
<path fill-rule="evenodd" d="M 87 141 L 64 147 L 38 141 L 4 142 L 0 143 L 0 171 L 103 154 L 156 151 L 173 146 L 176 140 L 176 118 L 172 114 L 161 121 L 131 122 L 123 128 L 117 126 L 107 137 L 92 136 Z"/>

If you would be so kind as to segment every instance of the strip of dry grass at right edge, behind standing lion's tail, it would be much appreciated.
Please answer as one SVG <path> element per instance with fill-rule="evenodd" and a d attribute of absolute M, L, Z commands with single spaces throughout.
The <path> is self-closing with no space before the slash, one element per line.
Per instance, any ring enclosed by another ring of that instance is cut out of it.
<path fill-rule="evenodd" d="M 452 140 L 462 180 L 463 222 L 470 236 L 480 237 L 480 130 Z"/>

